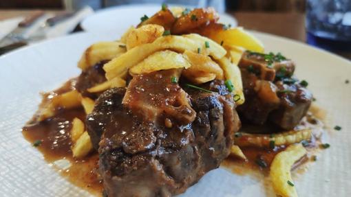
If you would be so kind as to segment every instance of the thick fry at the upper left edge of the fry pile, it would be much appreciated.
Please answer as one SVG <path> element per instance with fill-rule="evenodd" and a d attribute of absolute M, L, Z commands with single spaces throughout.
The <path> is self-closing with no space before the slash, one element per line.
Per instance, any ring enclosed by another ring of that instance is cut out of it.
<path fill-rule="evenodd" d="M 83 71 L 95 65 L 102 60 L 111 60 L 125 53 L 125 44 L 120 42 L 100 42 L 88 47 L 81 60 L 78 62 L 78 67 Z"/>

